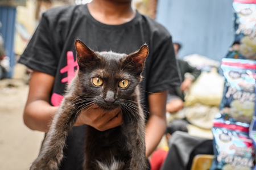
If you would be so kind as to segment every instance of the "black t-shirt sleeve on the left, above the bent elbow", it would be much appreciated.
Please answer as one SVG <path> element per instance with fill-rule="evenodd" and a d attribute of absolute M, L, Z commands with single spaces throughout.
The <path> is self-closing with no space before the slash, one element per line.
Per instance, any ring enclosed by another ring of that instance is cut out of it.
<path fill-rule="evenodd" d="M 32 70 L 54 76 L 57 68 L 57 58 L 54 53 L 52 32 L 49 25 L 49 20 L 43 15 L 18 62 Z"/>

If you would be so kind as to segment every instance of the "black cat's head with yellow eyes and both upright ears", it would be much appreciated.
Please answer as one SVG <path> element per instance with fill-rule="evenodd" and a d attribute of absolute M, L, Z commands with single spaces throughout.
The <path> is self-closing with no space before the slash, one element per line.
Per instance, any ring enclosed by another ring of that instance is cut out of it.
<path fill-rule="evenodd" d="M 75 44 L 82 91 L 90 102 L 112 110 L 135 100 L 138 94 L 134 94 L 134 91 L 142 79 L 141 73 L 148 55 L 147 45 L 126 55 L 93 52 L 80 40 L 76 40 Z"/>

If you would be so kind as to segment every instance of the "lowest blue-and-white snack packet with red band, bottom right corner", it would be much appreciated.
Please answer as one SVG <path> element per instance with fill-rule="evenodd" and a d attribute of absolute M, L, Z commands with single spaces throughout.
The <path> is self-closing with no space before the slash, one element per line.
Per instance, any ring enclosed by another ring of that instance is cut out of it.
<path fill-rule="evenodd" d="M 251 170 L 254 168 L 254 146 L 249 138 L 248 123 L 219 119 L 213 122 L 214 159 L 211 170 Z"/>

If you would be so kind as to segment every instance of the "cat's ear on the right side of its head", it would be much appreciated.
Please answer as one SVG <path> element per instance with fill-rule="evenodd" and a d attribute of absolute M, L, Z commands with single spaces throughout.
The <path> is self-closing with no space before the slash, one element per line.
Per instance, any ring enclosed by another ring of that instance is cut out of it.
<path fill-rule="evenodd" d="M 130 61 L 137 63 L 138 66 L 141 66 L 143 68 L 146 58 L 148 56 L 148 52 L 149 52 L 148 46 L 147 44 L 144 44 L 141 46 L 139 50 L 129 54 L 126 57 L 126 59 L 129 59 Z"/>

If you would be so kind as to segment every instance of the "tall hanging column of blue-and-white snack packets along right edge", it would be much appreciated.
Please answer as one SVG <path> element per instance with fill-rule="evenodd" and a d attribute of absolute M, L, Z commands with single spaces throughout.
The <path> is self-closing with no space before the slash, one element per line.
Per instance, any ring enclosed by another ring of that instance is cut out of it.
<path fill-rule="evenodd" d="M 221 69 L 220 113 L 213 120 L 211 170 L 255 169 L 256 1 L 234 0 L 235 39 Z"/>

